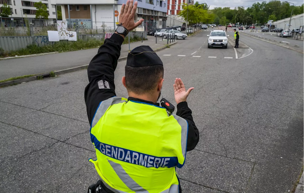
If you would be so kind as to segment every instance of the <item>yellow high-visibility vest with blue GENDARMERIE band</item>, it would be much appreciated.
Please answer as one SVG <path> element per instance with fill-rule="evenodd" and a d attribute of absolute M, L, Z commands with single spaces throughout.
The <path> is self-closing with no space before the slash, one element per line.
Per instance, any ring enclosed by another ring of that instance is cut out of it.
<path fill-rule="evenodd" d="M 175 167 L 185 163 L 188 123 L 156 105 L 112 97 L 90 129 L 101 180 L 114 192 L 178 193 Z"/>

